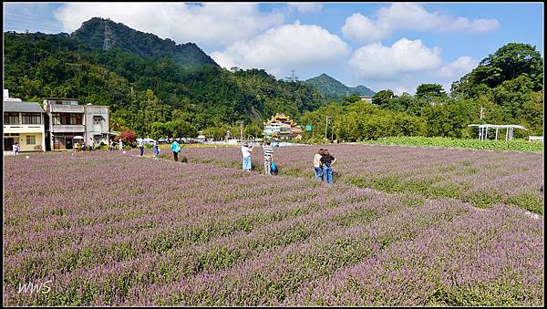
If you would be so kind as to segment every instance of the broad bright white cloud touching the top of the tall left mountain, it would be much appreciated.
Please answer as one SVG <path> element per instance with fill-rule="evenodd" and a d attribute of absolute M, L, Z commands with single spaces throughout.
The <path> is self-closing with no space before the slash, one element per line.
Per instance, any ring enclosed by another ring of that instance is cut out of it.
<path fill-rule="evenodd" d="M 255 36 L 283 24 L 281 13 L 262 13 L 251 3 L 71 3 L 61 6 L 56 17 L 72 32 L 91 17 L 110 18 L 143 32 L 177 43 L 223 46 Z"/>

